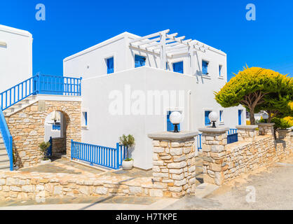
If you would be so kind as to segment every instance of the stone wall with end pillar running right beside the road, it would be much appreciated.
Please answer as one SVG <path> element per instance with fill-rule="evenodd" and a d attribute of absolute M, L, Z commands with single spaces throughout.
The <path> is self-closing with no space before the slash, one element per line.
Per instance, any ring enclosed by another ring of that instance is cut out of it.
<path fill-rule="evenodd" d="M 271 125 L 261 125 L 271 127 Z M 245 141 L 238 141 L 233 144 L 226 144 L 226 141 L 216 142 L 216 138 L 225 139 L 226 133 L 219 136 L 217 130 L 214 132 L 203 133 L 203 173 L 204 182 L 217 184 L 231 181 L 240 174 L 251 172 L 254 169 L 267 167 L 274 162 L 287 158 L 292 153 L 292 138 L 288 131 L 280 131 L 281 139 L 275 141 L 270 128 L 267 132 L 250 130 Z M 205 130 L 202 130 L 205 132 Z M 207 137 L 207 135 L 213 136 Z M 241 136 L 241 134 L 240 134 Z"/>

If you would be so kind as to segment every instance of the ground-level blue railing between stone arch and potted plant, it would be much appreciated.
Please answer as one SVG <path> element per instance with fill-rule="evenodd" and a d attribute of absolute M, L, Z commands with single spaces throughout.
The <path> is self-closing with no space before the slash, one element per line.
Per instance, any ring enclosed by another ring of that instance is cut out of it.
<path fill-rule="evenodd" d="M 84 144 L 71 140 L 71 159 L 90 162 L 111 169 L 119 169 L 127 155 L 127 147 L 116 144 L 116 148 Z"/>

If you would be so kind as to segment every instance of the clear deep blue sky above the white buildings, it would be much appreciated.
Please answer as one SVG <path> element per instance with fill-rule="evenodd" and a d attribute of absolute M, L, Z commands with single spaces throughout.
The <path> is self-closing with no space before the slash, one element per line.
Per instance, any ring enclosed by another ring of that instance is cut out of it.
<path fill-rule="evenodd" d="M 36 4 L 46 21 L 35 19 Z M 257 20 L 247 21 L 247 3 Z M 243 66 L 293 73 L 293 1 L 1 1 L 0 24 L 33 34 L 33 71 L 62 75 L 62 59 L 123 31 L 178 32 L 227 53 L 228 76 Z"/>

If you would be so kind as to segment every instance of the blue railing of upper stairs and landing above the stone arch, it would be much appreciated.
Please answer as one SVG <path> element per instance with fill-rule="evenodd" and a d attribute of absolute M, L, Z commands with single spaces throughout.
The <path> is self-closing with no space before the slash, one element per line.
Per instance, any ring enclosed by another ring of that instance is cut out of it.
<path fill-rule="evenodd" d="M 32 94 L 81 96 L 81 78 L 36 75 L 0 93 L 2 111 Z"/>

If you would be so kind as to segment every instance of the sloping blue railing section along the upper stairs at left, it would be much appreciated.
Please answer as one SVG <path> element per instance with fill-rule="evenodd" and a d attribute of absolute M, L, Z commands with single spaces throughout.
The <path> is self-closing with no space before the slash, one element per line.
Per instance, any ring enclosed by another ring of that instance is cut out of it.
<path fill-rule="evenodd" d="M 0 93 L 2 111 L 35 93 L 33 88 L 33 78 L 34 77 L 28 78 L 22 83 Z"/>

